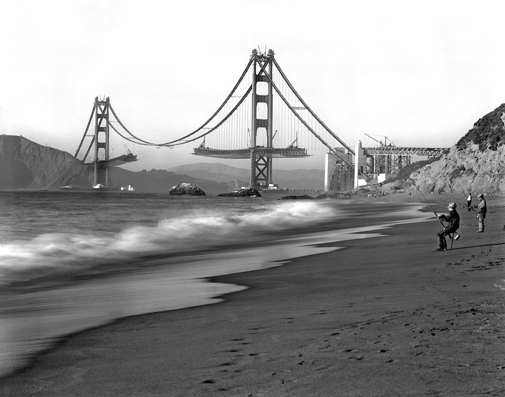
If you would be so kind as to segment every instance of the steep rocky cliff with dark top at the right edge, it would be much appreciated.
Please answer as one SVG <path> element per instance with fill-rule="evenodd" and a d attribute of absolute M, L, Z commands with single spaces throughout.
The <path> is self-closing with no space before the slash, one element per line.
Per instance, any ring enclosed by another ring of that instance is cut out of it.
<path fill-rule="evenodd" d="M 479 119 L 438 161 L 398 183 L 386 183 L 380 190 L 414 192 L 417 186 L 423 193 L 505 193 L 505 104 Z"/>

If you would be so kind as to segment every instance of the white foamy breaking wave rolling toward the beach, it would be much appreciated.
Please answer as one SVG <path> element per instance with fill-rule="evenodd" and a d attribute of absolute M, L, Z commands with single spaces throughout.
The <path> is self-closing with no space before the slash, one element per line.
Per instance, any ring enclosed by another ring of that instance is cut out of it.
<path fill-rule="evenodd" d="M 174 214 L 175 215 L 175 214 Z M 73 272 L 157 254 L 213 249 L 257 241 L 265 232 L 309 226 L 335 216 L 316 202 L 261 204 L 248 212 L 192 210 L 154 225 L 131 225 L 118 232 L 44 233 L 29 241 L 0 244 L 0 284 Z"/>

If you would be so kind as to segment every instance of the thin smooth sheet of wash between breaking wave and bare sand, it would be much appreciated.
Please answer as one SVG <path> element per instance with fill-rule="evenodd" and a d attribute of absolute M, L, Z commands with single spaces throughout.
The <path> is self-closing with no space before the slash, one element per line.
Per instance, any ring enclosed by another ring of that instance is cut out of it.
<path fill-rule="evenodd" d="M 153 259 L 132 272 L 37 291 L 3 293 L 0 375 L 26 365 L 64 335 L 122 317 L 218 303 L 220 295 L 246 288 L 209 282 L 208 278 L 281 266 L 294 258 L 342 248 L 320 245 L 385 236 L 372 231 L 426 220 L 425 214 L 412 208 L 400 211 L 395 218 L 379 225 L 280 236 L 246 249 Z"/>

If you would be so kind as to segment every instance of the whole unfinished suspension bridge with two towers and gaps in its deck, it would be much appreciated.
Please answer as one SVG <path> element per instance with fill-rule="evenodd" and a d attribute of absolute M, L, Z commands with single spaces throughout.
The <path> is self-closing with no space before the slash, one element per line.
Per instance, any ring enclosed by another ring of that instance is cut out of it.
<path fill-rule="evenodd" d="M 254 49 L 238 81 L 200 127 L 166 142 L 136 136 L 119 119 L 109 97 L 95 98 L 75 158 L 93 167 L 94 186 L 109 185 L 109 167 L 138 160 L 135 147 L 193 147 L 197 156 L 250 159 L 249 185 L 274 185 L 272 159 L 306 158 L 308 147 L 326 151 L 325 190 L 347 191 L 379 173 L 394 173 L 412 156 L 440 156 L 448 148 L 379 145 L 351 148 L 298 94 L 274 52 Z M 130 150 L 132 149 L 132 150 Z"/>

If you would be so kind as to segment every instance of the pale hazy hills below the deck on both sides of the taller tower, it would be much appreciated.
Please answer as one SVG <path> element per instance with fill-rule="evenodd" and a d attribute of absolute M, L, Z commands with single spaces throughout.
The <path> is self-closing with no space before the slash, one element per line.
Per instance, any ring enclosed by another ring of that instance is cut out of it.
<path fill-rule="evenodd" d="M 169 168 L 168 171 L 183 173 L 195 178 L 212 179 L 234 185 L 238 179 L 241 185 L 249 183 L 250 170 L 236 168 L 222 163 L 193 163 Z M 276 170 L 273 171 L 274 183 L 279 187 L 293 189 L 320 189 L 324 188 L 323 170 Z"/>

